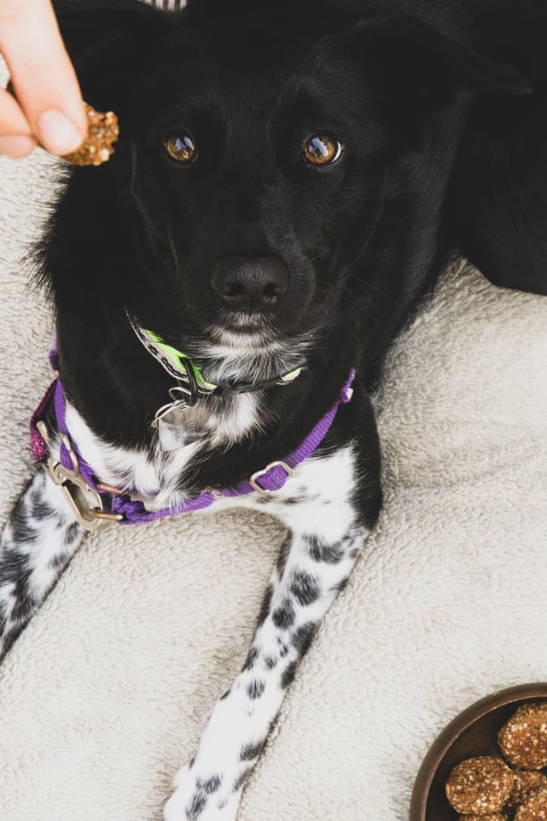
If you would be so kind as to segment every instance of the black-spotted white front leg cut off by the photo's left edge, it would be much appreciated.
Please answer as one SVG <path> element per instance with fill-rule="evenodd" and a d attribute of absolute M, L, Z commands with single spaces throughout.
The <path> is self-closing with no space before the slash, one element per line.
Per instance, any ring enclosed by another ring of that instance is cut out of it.
<path fill-rule="evenodd" d="M 54 587 L 83 535 L 61 488 L 39 469 L 0 542 L 0 659 Z"/>

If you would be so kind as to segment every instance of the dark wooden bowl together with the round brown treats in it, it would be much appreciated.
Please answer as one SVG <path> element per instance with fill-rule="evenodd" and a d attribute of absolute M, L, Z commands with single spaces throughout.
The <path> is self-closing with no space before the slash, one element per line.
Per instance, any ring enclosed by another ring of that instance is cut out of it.
<path fill-rule="evenodd" d="M 409 821 L 547 821 L 547 683 L 461 712 L 422 764 Z"/>

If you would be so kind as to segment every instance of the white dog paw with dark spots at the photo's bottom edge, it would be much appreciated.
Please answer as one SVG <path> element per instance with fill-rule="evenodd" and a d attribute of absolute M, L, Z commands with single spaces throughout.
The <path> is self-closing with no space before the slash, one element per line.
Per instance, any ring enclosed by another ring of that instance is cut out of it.
<path fill-rule="evenodd" d="M 221 775 L 202 776 L 190 764 L 182 767 L 163 821 L 235 821 L 240 792 L 230 791 L 232 785 L 222 782 Z"/>

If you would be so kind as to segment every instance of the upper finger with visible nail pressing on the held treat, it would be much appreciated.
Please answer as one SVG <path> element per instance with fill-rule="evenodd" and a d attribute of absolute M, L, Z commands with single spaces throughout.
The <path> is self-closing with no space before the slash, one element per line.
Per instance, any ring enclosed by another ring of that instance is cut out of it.
<path fill-rule="evenodd" d="M 31 130 L 55 154 L 75 151 L 87 121 L 76 73 L 49 0 L 8 2 L 0 11 L 0 51 Z"/>

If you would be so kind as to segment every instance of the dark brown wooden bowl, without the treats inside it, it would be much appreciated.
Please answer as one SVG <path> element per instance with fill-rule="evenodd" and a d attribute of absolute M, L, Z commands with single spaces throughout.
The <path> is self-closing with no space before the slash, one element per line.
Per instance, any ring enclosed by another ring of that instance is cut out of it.
<path fill-rule="evenodd" d="M 459 713 L 433 743 L 412 793 L 409 821 L 458 821 L 445 785 L 452 769 L 475 755 L 501 756 L 498 731 L 526 701 L 547 701 L 547 683 L 494 692 Z"/>

